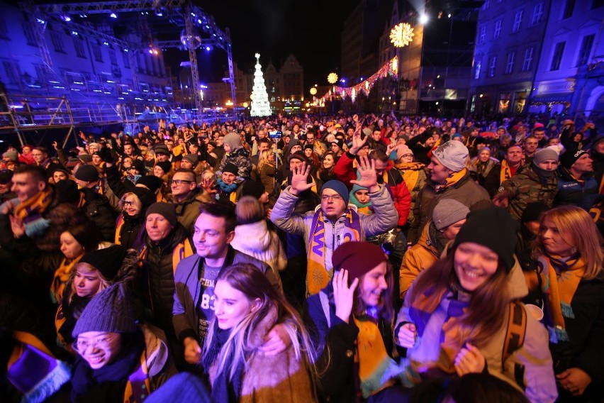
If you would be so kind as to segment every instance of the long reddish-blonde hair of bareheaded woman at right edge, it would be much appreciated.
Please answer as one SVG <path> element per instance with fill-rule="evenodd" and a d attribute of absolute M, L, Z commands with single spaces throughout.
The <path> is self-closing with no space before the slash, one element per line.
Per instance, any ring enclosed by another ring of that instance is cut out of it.
<path fill-rule="evenodd" d="M 564 242 L 577 248 L 578 253 L 585 260 L 583 278 L 593 280 L 598 277 L 604 270 L 603 238 L 588 212 L 577 206 L 558 206 L 545 211 L 539 217 L 539 226 L 543 225 L 545 219 L 552 220 Z M 546 251 L 539 229 L 539 236 L 535 238 L 532 248 L 532 256 L 538 258 L 542 254 L 546 254 Z"/>

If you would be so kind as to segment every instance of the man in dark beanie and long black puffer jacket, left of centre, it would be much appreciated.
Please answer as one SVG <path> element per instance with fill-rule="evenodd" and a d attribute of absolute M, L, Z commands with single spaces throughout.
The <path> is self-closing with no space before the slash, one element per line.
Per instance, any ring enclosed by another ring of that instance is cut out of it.
<path fill-rule="evenodd" d="M 194 253 L 188 236 L 189 232 L 178 222 L 173 204 L 158 202 L 147 208 L 141 253 L 145 307 L 152 312 L 151 323 L 166 333 L 175 356 L 181 356 L 182 347 L 172 325 L 174 271 L 182 259 Z"/>

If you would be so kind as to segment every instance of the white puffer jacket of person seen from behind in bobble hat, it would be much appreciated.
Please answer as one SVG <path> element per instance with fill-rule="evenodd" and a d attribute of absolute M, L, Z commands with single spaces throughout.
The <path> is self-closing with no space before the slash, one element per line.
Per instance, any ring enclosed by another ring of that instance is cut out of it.
<path fill-rule="evenodd" d="M 235 227 L 235 238 L 230 243 L 233 248 L 269 265 L 279 280 L 279 289 L 283 291 L 279 272 L 287 266 L 285 248 L 281 245 L 279 236 L 270 231 L 267 221 L 260 220 Z"/>

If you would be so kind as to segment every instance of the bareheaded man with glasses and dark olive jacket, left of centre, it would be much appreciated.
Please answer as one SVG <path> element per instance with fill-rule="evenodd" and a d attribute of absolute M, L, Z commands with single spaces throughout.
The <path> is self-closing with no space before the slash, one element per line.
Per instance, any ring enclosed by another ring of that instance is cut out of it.
<path fill-rule="evenodd" d="M 197 188 L 195 180 L 195 172 L 182 169 L 177 170 L 172 180 L 170 180 L 170 189 L 172 189 L 177 219 L 189 233 L 194 232 L 195 220 L 199 215 L 199 207 L 202 203 L 210 201 L 208 194 Z"/>

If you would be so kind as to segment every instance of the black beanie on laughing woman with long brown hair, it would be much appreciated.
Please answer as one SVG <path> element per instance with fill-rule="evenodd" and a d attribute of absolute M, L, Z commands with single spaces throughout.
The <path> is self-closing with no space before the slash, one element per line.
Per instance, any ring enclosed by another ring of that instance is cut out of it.
<path fill-rule="evenodd" d="M 512 219 L 506 209 L 488 207 L 471 211 L 466 223 L 455 237 L 453 248 L 464 242 L 486 246 L 497 253 L 505 270 L 510 272 L 514 265 L 516 231 L 518 231 L 518 223 Z"/>

